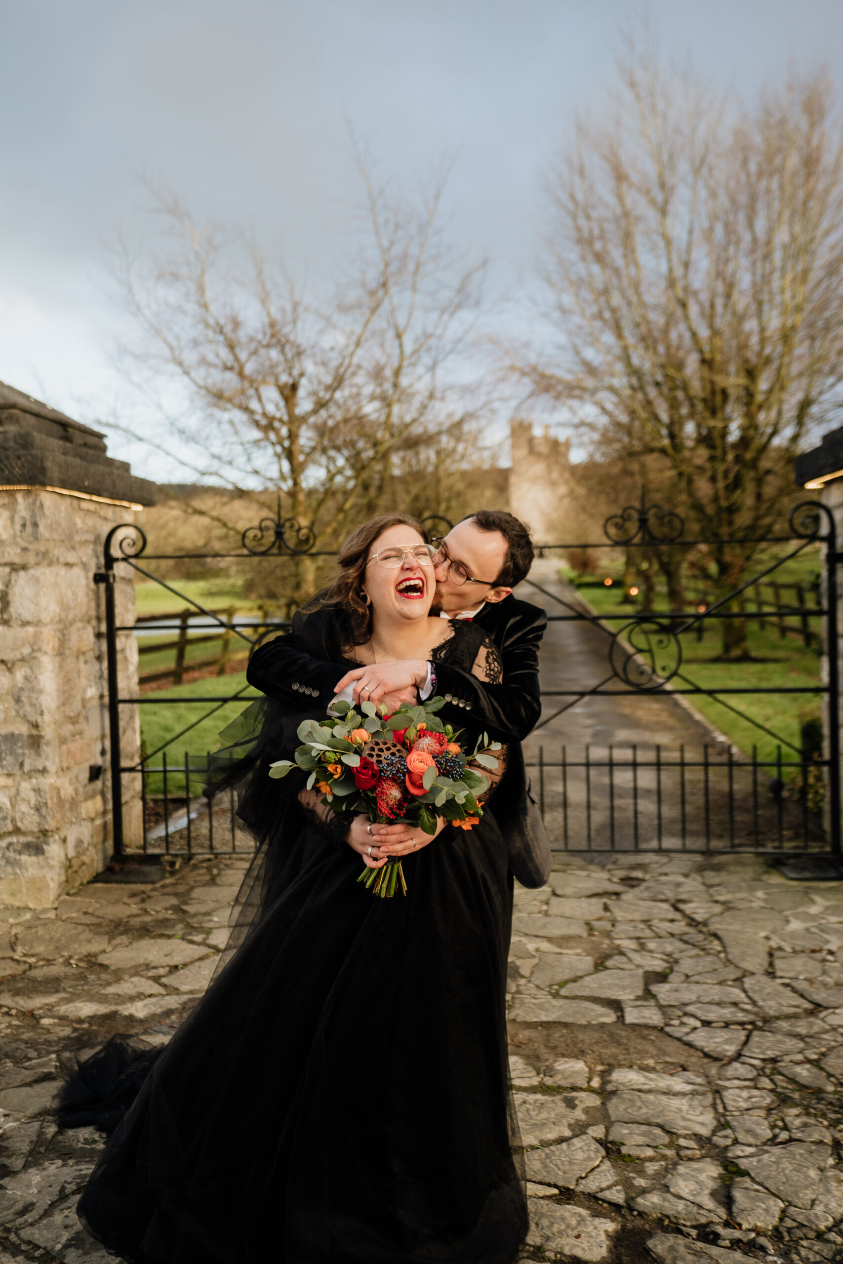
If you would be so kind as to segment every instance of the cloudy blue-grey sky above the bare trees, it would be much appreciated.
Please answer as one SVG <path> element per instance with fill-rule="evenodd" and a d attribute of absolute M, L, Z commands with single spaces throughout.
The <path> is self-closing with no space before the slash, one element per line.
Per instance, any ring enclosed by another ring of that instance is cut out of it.
<path fill-rule="evenodd" d="M 118 230 L 154 233 L 142 179 L 283 241 L 318 283 L 356 196 L 349 125 L 384 177 L 452 161 L 452 235 L 489 255 L 512 320 L 542 171 L 646 13 L 669 56 L 723 86 L 825 62 L 843 87 L 839 0 L 0 0 L 0 380 L 144 425 L 114 367 L 106 267 Z M 183 477 L 116 434 L 110 450 Z"/>

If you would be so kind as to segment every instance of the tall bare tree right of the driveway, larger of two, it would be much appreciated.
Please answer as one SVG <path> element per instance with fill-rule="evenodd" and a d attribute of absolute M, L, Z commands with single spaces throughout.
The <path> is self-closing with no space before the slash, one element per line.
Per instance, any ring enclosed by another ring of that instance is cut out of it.
<path fill-rule="evenodd" d="M 791 503 L 791 460 L 843 378 L 843 134 L 822 76 L 752 110 L 628 49 L 617 112 L 550 177 L 559 348 L 513 356 L 621 458 L 658 454 L 723 541 L 720 593 Z M 724 653 L 746 653 L 724 621 Z"/>

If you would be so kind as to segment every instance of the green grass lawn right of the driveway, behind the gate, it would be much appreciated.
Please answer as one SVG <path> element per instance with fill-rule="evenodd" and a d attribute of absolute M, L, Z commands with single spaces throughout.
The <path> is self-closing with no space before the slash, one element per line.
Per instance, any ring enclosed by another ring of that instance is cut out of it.
<path fill-rule="evenodd" d="M 757 557 L 749 574 L 757 574 L 770 565 L 775 554 Z M 811 545 L 803 555 L 790 562 L 784 564 L 775 571 L 780 583 L 810 583 L 820 565 L 819 550 Z M 578 578 L 570 570 L 562 570 L 564 578 L 576 584 Z M 610 576 L 621 579 L 619 564 L 614 568 L 607 566 L 595 576 L 600 579 Z M 623 590 L 618 584 L 608 586 L 591 586 L 589 583 L 581 589 L 583 597 L 599 614 L 633 614 L 640 613 L 640 607 L 632 602 L 623 600 Z M 766 599 L 771 594 L 765 593 Z M 782 594 L 782 602 L 794 604 L 792 594 Z M 694 609 L 696 602 L 688 602 Z M 657 592 L 656 612 L 664 613 L 667 603 L 664 592 Z M 749 611 L 753 603 L 749 602 Z M 795 623 L 794 617 L 789 617 L 789 623 Z M 704 624 L 703 640 L 696 640 L 696 631 L 691 629 L 680 637 L 682 647 L 681 676 L 674 678 L 676 688 L 699 686 L 717 690 L 719 688 L 810 688 L 820 685 L 820 637 L 823 633 L 822 617 L 813 616 L 809 627 L 815 633 L 815 641 L 810 647 L 805 647 L 801 638 L 789 633 L 781 637 L 780 629 L 767 618 L 766 626 L 761 628 L 755 617 L 748 619 L 749 652 L 757 660 L 753 662 L 718 662 L 722 652 L 722 622 L 712 618 Z M 612 621 L 608 624 L 613 631 L 618 631 L 623 623 Z M 794 751 L 786 743 L 800 747 L 800 728 L 804 720 L 820 714 L 820 694 L 727 694 L 723 700 L 700 694 L 689 695 L 689 702 L 708 719 L 719 728 L 729 741 L 743 751 L 747 756 L 756 746 L 758 758 L 775 760 L 776 748 L 781 744 L 782 758 L 795 758 Z M 755 722 L 755 723 L 753 723 Z M 760 726 L 763 726 L 760 727 Z M 771 732 L 765 732 L 770 729 Z"/>

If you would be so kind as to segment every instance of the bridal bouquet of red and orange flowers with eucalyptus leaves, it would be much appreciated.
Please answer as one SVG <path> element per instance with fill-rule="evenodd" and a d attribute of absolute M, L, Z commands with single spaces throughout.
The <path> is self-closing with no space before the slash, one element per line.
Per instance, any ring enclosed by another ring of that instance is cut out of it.
<path fill-rule="evenodd" d="M 483 815 L 478 798 L 488 789 L 488 779 L 469 765 L 497 769 L 487 733 L 466 753 L 450 724 L 442 724 L 436 712 L 444 698 L 431 698 L 417 707 L 402 705 L 380 714 L 374 703 L 334 703 L 336 719 L 305 720 L 298 728 L 302 744 L 294 762 L 278 760 L 269 767 L 270 777 L 284 777 L 294 769 L 310 772 L 307 789 L 322 794 L 322 803 L 334 811 L 364 813 L 379 824 L 402 822 L 435 834 L 444 817 L 460 829 L 476 825 Z M 407 894 L 401 861 L 388 861 L 379 870 L 365 868 L 359 882 L 379 896 L 392 896 L 399 886 Z"/>

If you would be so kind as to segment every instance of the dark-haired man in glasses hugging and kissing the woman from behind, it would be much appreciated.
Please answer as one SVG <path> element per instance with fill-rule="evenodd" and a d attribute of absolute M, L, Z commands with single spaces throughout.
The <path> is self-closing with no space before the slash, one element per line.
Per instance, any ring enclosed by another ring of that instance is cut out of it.
<path fill-rule="evenodd" d="M 322 611 L 297 612 L 292 636 L 259 646 L 252 656 L 250 685 L 291 709 L 327 709 L 334 698 L 373 702 L 394 710 L 439 695 L 440 719 L 459 728 L 465 713 L 502 741 L 516 739 L 495 815 L 512 842 L 511 868 L 525 885 L 541 886 L 550 872 L 550 852 L 530 791 L 521 741 L 541 714 L 538 645 L 547 624 L 545 611 L 512 595 L 533 560 L 530 532 L 502 509 L 478 509 L 440 541 L 434 559 L 436 608 L 444 618 L 470 618 L 494 641 L 503 664 L 499 681 L 482 681 L 469 671 L 431 661 L 368 664 L 343 676 L 335 664 L 313 657 L 307 647 L 324 643 Z M 313 621 L 313 622 L 311 622 Z"/>

